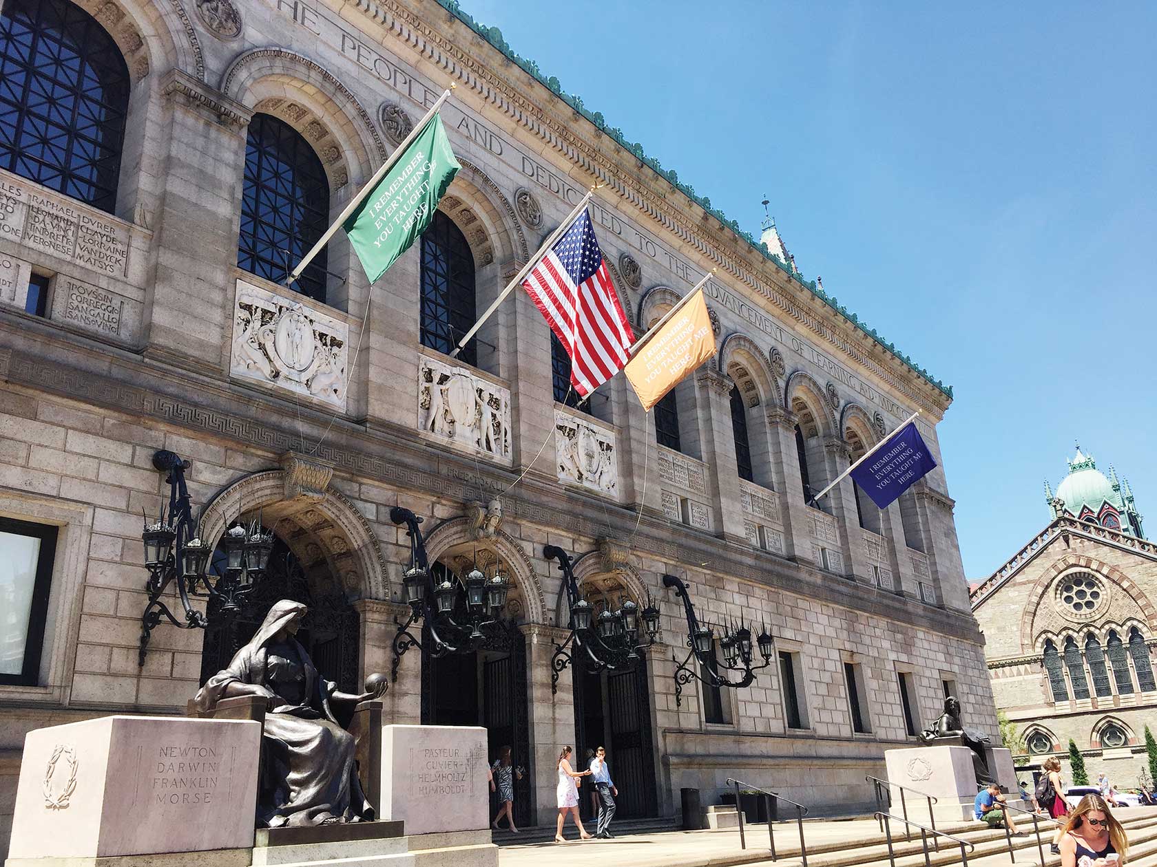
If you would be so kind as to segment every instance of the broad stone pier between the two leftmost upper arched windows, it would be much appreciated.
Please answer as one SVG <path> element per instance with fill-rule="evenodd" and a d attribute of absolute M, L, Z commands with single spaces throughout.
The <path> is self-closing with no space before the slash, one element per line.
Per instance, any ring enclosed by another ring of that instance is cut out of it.
<path fill-rule="evenodd" d="M 245 106 L 186 75 L 164 83 L 170 117 L 153 228 L 145 354 L 220 378 L 228 366 L 245 166 Z"/>

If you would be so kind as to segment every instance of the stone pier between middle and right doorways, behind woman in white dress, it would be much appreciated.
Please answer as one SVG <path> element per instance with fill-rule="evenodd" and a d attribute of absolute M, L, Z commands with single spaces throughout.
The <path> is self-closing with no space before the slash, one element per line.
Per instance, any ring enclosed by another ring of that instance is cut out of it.
<path fill-rule="evenodd" d="M 526 701 L 530 702 L 531 802 L 536 824 L 553 824 L 558 816 L 555 762 L 562 747 L 575 746 L 574 680 L 568 670 L 559 675 L 558 691 L 551 694 L 551 657 L 555 643 L 569 631 L 532 623 L 526 636 Z M 572 763 L 573 764 L 573 763 Z"/>

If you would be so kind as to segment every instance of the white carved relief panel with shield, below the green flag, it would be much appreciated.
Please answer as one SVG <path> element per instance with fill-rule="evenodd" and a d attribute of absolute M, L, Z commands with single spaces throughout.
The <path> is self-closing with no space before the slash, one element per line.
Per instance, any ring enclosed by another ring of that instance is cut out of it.
<path fill-rule="evenodd" d="M 303 298 L 238 280 L 229 372 L 345 410 L 349 326 Z"/>

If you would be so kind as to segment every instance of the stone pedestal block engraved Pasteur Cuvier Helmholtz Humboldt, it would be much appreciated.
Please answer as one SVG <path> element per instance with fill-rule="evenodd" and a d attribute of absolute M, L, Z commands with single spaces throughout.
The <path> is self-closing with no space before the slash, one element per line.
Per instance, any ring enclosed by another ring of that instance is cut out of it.
<path fill-rule="evenodd" d="M 486 729 L 382 726 L 378 814 L 406 833 L 487 830 Z"/>

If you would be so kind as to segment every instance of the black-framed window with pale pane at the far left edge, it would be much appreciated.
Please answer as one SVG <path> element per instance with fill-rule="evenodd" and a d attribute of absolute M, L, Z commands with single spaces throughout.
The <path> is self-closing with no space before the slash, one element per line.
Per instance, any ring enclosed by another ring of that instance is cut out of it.
<path fill-rule="evenodd" d="M 57 527 L 0 518 L 0 683 L 36 686 Z"/>

